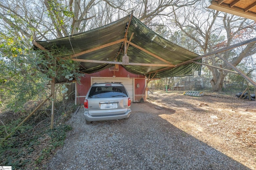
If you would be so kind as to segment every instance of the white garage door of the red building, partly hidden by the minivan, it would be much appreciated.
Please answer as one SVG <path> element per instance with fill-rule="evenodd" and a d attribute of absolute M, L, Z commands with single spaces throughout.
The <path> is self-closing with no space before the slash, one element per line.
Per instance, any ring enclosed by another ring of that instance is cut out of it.
<path fill-rule="evenodd" d="M 91 85 L 94 83 L 122 83 L 129 93 L 131 100 L 133 101 L 133 78 L 112 78 L 112 77 L 91 77 Z"/>

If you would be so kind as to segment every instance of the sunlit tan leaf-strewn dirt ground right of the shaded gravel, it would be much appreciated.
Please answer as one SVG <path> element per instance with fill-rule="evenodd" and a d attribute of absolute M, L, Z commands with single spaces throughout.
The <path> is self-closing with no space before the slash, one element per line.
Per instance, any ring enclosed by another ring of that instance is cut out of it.
<path fill-rule="evenodd" d="M 196 139 L 256 170 L 256 102 L 235 94 L 150 91 L 150 110 Z M 161 114 L 170 109 L 173 114 Z"/>

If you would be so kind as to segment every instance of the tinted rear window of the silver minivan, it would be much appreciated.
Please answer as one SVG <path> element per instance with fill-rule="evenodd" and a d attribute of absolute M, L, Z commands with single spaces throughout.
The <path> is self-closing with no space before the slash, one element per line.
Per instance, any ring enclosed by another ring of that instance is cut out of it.
<path fill-rule="evenodd" d="M 93 86 L 88 98 L 126 98 L 124 86 Z"/>

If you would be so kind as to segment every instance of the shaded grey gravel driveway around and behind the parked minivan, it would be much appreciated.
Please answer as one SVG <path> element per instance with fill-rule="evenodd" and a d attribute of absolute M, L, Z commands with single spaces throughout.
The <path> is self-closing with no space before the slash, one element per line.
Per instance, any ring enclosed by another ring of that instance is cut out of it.
<path fill-rule="evenodd" d="M 83 108 L 68 123 L 64 147 L 45 165 L 58 170 L 250 169 L 162 119 L 175 110 L 133 103 L 127 120 L 85 124 Z"/>

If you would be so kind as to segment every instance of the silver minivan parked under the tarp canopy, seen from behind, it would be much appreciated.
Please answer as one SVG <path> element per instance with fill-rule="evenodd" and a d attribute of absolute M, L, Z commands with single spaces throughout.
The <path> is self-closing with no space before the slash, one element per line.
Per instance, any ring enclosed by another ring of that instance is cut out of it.
<path fill-rule="evenodd" d="M 84 100 L 86 124 L 91 121 L 125 119 L 131 113 L 131 99 L 121 83 L 95 83 Z"/>

